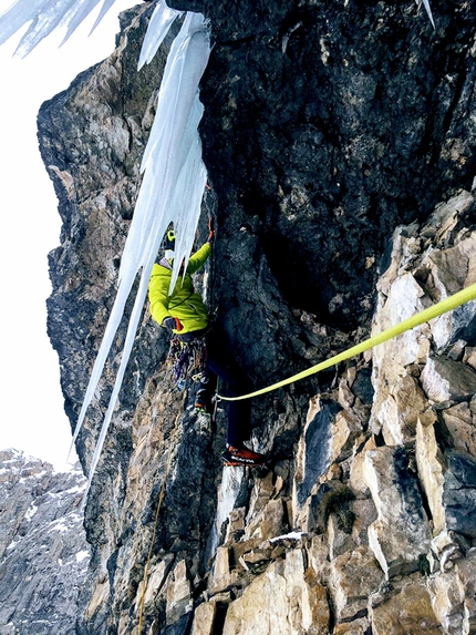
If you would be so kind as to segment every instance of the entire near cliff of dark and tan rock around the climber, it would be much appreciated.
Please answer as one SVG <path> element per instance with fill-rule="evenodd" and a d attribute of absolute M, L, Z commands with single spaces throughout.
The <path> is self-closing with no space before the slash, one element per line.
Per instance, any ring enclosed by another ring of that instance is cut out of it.
<path fill-rule="evenodd" d="M 476 281 L 474 1 L 435 7 L 436 30 L 414 2 L 170 4 L 211 20 L 197 244 L 214 212 L 214 337 L 255 387 Z M 72 426 L 164 66 L 135 70 L 152 10 L 123 14 L 114 54 L 39 115 Z M 77 441 L 84 470 L 125 326 Z M 252 444 L 271 457 L 255 471 L 221 467 L 226 414 L 213 426 L 193 383 L 174 389 L 167 349 L 146 307 L 85 511 L 77 635 L 476 632 L 475 301 L 253 400 Z"/>

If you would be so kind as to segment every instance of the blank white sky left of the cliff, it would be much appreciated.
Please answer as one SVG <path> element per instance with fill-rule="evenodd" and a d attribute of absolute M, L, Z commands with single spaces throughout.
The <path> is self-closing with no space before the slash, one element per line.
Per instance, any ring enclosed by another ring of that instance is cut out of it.
<path fill-rule="evenodd" d="M 0 0 L 0 13 L 12 0 Z M 25 59 L 12 58 L 19 34 L 0 47 L 0 449 L 66 468 L 71 442 L 63 410 L 58 356 L 46 336 L 51 293 L 48 253 L 59 245 L 60 216 L 37 141 L 40 105 L 66 89 L 79 72 L 114 49 L 117 16 L 136 4 L 116 0 L 89 37 L 96 16 L 61 49 L 52 33 Z"/>

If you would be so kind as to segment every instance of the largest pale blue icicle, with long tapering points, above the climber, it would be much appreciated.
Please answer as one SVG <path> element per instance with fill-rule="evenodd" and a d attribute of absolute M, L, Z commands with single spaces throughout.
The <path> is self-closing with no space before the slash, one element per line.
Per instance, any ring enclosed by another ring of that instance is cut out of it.
<path fill-rule="evenodd" d="M 174 223 L 178 236 L 175 247 L 177 266 L 174 266 L 172 286 L 177 279 L 182 260 L 185 258 L 188 262 L 192 252 L 207 178 L 198 134 L 203 115 L 198 83 L 207 65 L 209 52 L 207 21 L 200 13 L 188 12 L 167 58 L 157 112 L 142 164 L 144 180 L 121 262 L 117 295 L 74 431 L 73 443 L 101 378 L 132 286 L 142 268 L 121 365 L 91 462 L 87 489 L 97 465 L 134 345 L 152 267 L 170 223 Z"/>

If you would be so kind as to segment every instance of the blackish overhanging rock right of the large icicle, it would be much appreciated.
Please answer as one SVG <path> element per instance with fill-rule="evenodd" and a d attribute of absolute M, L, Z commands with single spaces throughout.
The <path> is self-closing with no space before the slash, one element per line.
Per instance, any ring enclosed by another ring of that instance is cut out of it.
<path fill-rule="evenodd" d="M 474 6 L 439 3 L 435 31 L 412 3 L 249 4 L 178 2 L 213 24 L 203 136 L 220 246 L 266 263 L 291 307 L 349 330 L 369 316 L 393 227 L 470 188 Z M 256 245 L 234 242 L 239 226 Z M 239 294 L 225 253 L 219 279 Z"/>

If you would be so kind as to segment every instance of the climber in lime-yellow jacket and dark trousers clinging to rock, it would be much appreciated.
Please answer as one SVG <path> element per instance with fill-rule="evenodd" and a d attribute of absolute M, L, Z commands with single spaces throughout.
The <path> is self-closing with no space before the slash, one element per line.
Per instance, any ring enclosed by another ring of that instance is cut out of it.
<path fill-rule="evenodd" d="M 204 339 L 206 347 L 205 368 L 201 371 L 195 408 L 210 413 L 217 378 L 227 385 L 227 396 L 246 392 L 248 378 L 242 370 L 226 359 L 209 334 L 208 311 L 201 296 L 194 290 L 192 274 L 197 272 L 211 254 L 215 232 L 209 224 L 207 242 L 190 256 L 187 269 L 180 268 L 178 279 L 169 295 L 172 265 L 175 256 L 175 234 L 167 232 L 164 256 L 156 262 L 148 283 L 148 298 L 153 319 L 170 330 L 182 346 L 193 346 Z M 249 450 L 245 441 L 249 440 L 249 401 L 228 402 L 227 447 L 223 454 L 225 465 L 262 465 L 266 457 Z"/>

